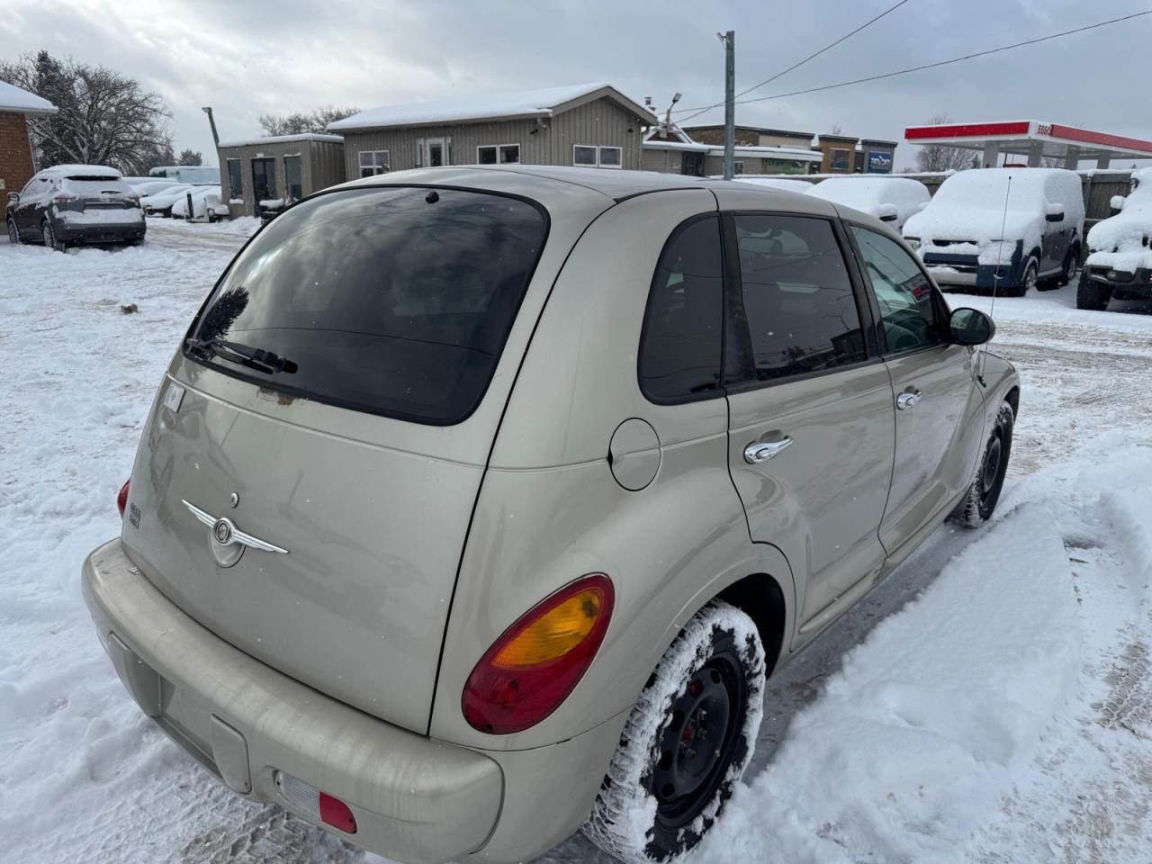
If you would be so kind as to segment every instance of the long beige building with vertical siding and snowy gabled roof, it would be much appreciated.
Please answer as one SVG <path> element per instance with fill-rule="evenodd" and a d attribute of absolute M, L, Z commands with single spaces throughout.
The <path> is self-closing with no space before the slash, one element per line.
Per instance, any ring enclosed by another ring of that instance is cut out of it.
<path fill-rule="evenodd" d="M 441 165 L 641 167 L 655 116 L 609 84 L 371 108 L 328 124 L 349 180 Z"/>

